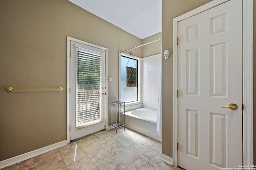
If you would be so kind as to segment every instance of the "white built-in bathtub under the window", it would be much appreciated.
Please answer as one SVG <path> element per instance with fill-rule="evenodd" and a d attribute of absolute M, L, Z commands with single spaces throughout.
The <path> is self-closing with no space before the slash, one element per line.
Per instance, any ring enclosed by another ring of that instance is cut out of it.
<path fill-rule="evenodd" d="M 125 127 L 162 142 L 162 137 L 156 133 L 157 113 L 156 109 L 148 108 L 126 111 Z"/>

